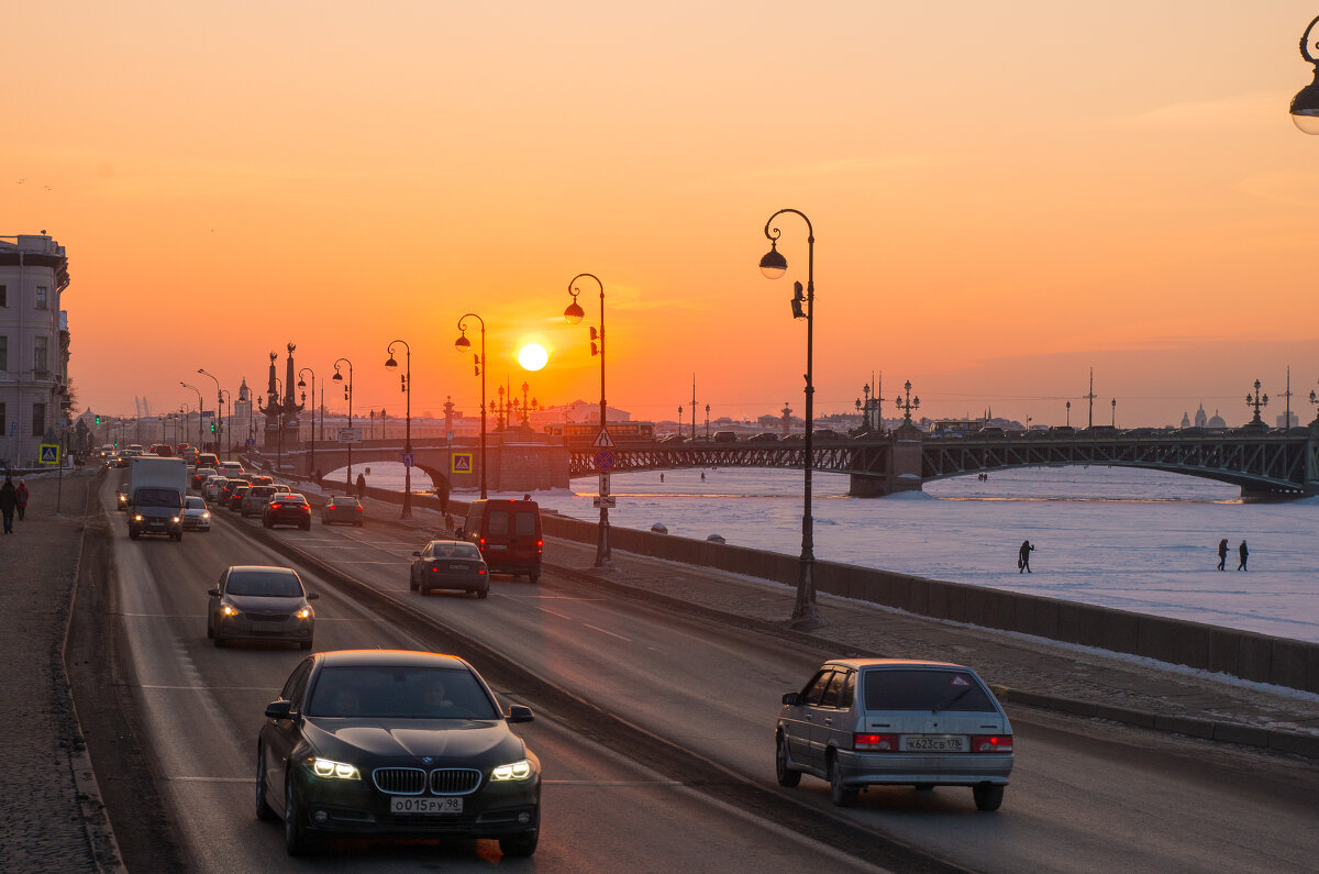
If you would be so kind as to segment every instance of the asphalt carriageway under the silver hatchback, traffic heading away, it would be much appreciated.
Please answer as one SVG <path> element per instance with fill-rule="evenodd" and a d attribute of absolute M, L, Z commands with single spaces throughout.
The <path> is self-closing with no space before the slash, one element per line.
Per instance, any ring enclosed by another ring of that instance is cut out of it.
<path fill-rule="evenodd" d="M 1010 713 L 1017 764 L 997 813 L 969 790 L 872 790 L 855 811 L 813 778 L 778 790 L 773 720 L 822 657 L 751 631 L 603 595 L 550 574 L 496 576 L 487 601 L 408 589 L 421 544 L 389 525 L 284 531 L 338 569 L 534 673 L 777 792 L 958 865 L 1021 870 L 1306 870 L 1319 768 L 1266 751 L 1038 710 Z M 973 654 L 967 655 L 973 664 Z"/>

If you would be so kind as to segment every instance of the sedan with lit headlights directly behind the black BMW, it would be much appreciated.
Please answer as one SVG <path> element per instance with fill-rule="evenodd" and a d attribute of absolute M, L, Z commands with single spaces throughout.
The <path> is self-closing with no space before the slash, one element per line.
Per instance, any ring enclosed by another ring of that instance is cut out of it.
<path fill-rule="evenodd" d="M 208 589 L 206 636 L 223 647 L 230 640 L 289 640 L 311 648 L 319 595 L 307 593 L 293 568 L 233 565 Z"/>

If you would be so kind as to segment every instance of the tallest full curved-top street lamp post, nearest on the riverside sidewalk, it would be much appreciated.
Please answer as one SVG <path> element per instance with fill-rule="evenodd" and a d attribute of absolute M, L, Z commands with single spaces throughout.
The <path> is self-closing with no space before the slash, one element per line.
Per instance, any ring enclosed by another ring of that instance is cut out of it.
<path fill-rule="evenodd" d="M 778 238 L 781 231 L 772 228 L 774 219 L 785 213 L 799 215 L 806 222 L 806 293 L 802 294 L 802 284 L 793 285 L 793 318 L 806 319 L 806 436 L 802 442 L 805 452 L 802 467 L 805 467 L 805 488 L 802 508 L 802 556 L 801 570 L 797 578 L 797 603 L 793 606 L 791 624 L 797 628 L 818 628 L 824 623 L 815 605 L 815 532 L 811 520 L 811 432 L 815 428 L 815 386 L 813 382 L 814 351 L 815 351 L 815 227 L 806 214 L 799 210 L 783 209 L 769 217 L 765 222 L 765 238 L 769 239 L 769 251 L 760 259 L 760 272 L 766 279 L 778 279 L 787 272 L 787 259 L 778 251 Z M 805 306 L 805 310 L 803 310 Z M 695 411 L 692 411 L 695 412 Z"/>

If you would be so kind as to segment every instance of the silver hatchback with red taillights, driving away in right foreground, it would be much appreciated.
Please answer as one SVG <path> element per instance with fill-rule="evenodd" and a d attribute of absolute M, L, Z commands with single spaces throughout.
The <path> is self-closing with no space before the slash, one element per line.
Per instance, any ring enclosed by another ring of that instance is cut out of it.
<path fill-rule="evenodd" d="M 1013 764 L 997 698 L 975 671 L 943 661 L 827 661 L 783 694 L 774 735 L 780 786 L 818 776 L 839 807 L 869 786 L 968 786 L 979 809 L 997 811 Z"/>

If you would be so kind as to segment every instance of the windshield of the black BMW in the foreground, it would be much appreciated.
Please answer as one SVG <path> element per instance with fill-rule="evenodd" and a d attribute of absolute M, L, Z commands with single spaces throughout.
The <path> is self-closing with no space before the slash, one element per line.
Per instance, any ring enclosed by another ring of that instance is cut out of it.
<path fill-rule="evenodd" d="M 470 671 L 396 665 L 324 668 L 306 712 L 343 718 L 500 718 Z"/>

